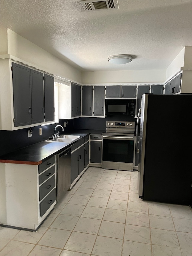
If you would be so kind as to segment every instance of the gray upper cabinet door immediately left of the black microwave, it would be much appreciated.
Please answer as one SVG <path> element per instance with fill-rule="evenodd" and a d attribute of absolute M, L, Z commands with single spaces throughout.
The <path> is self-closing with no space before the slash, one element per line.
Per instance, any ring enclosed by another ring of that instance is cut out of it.
<path fill-rule="evenodd" d="M 105 86 L 94 87 L 94 116 L 104 116 Z"/>

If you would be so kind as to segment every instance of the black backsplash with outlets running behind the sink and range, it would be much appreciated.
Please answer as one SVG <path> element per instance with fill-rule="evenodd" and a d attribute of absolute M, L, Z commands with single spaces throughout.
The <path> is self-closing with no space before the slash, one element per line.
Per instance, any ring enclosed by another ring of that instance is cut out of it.
<path fill-rule="evenodd" d="M 109 116 L 105 118 L 98 117 L 79 117 L 75 119 L 69 119 L 67 126 L 64 128 L 64 133 L 73 131 L 74 129 L 85 130 L 105 130 L 106 121 L 135 121 L 133 116 Z M 67 119 L 60 119 L 58 124 L 63 126 L 63 123 L 67 123 Z M 136 120 L 137 121 L 137 120 Z M 32 137 L 27 136 L 29 128 L 19 129 L 16 131 L 1 131 L 0 130 L 0 155 L 4 155 L 15 150 L 30 146 L 32 144 L 47 140 L 51 134 L 54 133 L 54 128 L 58 124 L 52 125 L 38 125 L 32 127 Z M 42 128 L 42 135 L 39 135 L 39 128 Z M 61 128 L 57 128 L 56 131 L 62 133 Z"/>

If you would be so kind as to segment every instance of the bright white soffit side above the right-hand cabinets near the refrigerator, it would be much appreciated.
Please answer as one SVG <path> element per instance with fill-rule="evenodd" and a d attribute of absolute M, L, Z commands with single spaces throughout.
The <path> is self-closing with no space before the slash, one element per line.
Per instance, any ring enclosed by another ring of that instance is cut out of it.
<path fill-rule="evenodd" d="M 175 59 L 171 62 L 166 72 L 166 79 L 173 77 L 177 72 L 181 70 L 181 67 L 184 66 L 184 54 L 185 47 L 181 50 L 181 52 L 175 57 Z"/>

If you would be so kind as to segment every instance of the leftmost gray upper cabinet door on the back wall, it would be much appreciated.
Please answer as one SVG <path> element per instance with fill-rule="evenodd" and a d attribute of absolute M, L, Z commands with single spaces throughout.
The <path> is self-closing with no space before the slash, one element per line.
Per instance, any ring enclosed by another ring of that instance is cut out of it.
<path fill-rule="evenodd" d="M 93 86 L 83 86 L 82 92 L 82 114 L 83 116 L 92 116 Z"/>

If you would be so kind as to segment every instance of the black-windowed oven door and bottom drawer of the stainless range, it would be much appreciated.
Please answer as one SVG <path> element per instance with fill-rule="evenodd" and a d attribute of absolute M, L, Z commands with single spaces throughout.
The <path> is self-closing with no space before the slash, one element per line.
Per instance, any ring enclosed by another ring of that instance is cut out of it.
<path fill-rule="evenodd" d="M 133 170 L 134 136 L 103 135 L 104 169 Z"/>

